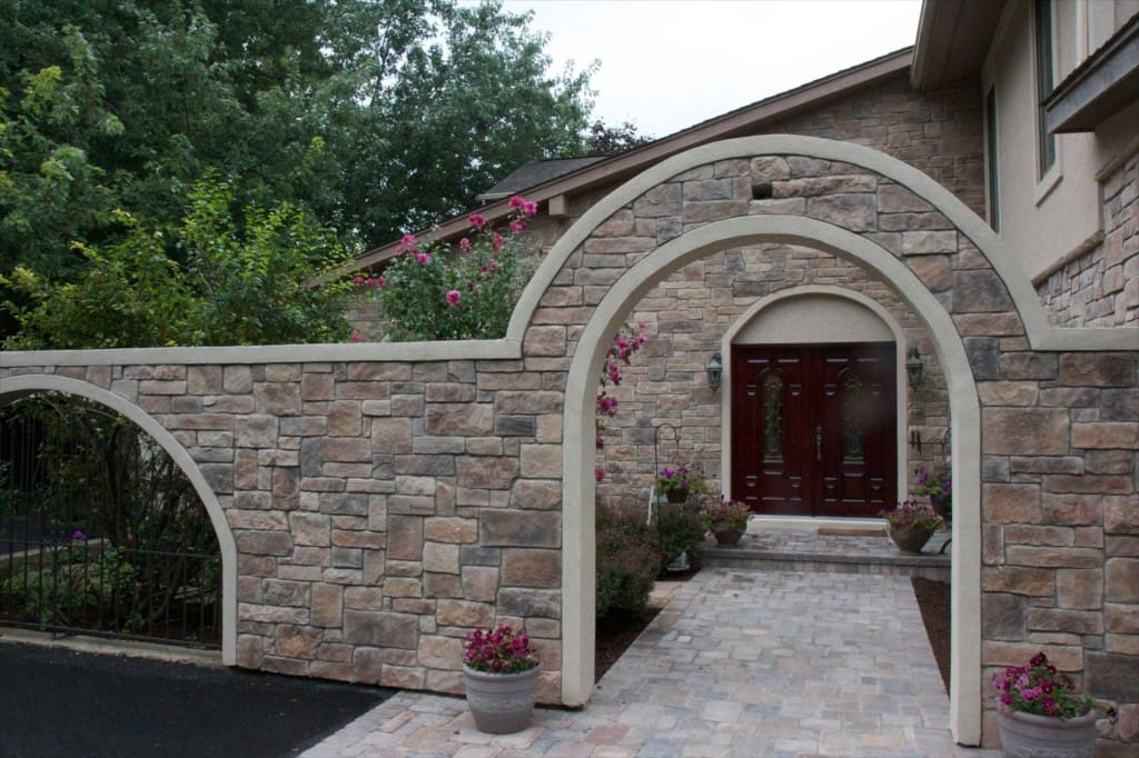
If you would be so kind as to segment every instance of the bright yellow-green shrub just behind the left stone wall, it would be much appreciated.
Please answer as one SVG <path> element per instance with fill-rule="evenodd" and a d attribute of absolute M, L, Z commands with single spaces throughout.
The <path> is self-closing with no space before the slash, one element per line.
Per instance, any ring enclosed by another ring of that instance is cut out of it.
<path fill-rule="evenodd" d="M 349 335 L 347 282 L 331 274 L 350 255 L 335 236 L 288 204 L 232 219 L 232 187 L 213 176 L 189 196 L 171 238 L 115 213 L 125 236 L 76 245 L 88 265 L 73 281 L 17 267 L 0 283 L 23 296 L 7 304 L 21 326 L 9 349 L 339 341 Z M 166 256 L 173 247 L 185 265 Z"/>

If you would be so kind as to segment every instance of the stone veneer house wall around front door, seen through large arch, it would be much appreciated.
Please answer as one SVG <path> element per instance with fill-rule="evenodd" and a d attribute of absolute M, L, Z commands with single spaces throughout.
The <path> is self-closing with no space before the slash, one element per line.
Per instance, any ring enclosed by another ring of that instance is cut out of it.
<path fill-rule="evenodd" d="M 867 188 L 869 188 L 867 183 Z M 919 348 L 925 377 L 908 402 L 906 438 L 920 431 L 927 443 L 919 453 L 909 450 L 908 472 L 917 465 L 942 462 L 941 446 L 949 428 L 945 380 L 937 365 L 928 332 L 887 286 L 833 255 L 792 246 L 751 246 L 718 253 L 689 264 L 650 291 L 633 310 L 630 323 L 642 322 L 649 341 L 634 356 L 621 387 L 607 388 L 620 401 L 620 413 L 606 420 L 605 448 L 598 465 L 606 471 L 598 486 L 601 502 L 622 502 L 637 495 L 642 502 L 652 485 L 655 462 L 661 465 L 698 463 L 708 476 L 721 478 L 721 401 L 728 392 L 712 393 L 705 366 L 721 349 L 729 327 L 762 297 L 803 285 L 835 285 L 882 304 Z M 820 341 L 826 341 L 820 336 Z M 729 360 L 724 355 L 723 360 Z M 670 423 L 679 430 L 659 434 L 654 427 Z M 948 452 L 948 451 L 945 451 Z"/>

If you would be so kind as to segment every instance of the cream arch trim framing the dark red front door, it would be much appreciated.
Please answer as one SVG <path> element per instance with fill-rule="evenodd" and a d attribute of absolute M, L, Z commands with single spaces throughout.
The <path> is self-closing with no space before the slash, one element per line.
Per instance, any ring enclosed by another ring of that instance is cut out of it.
<path fill-rule="evenodd" d="M 724 486 L 730 486 L 731 483 L 731 345 L 736 339 L 736 336 L 747 327 L 762 311 L 771 307 L 784 300 L 794 299 L 796 297 L 808 297 L 808 296 L 823 296 L 823 297 L 835 297 L 850 300 L 867 311 L 869 311 L 876 319 L 886 324 L 890 329 L 890 333 L 894 336 L 894 386 L 898 388 L 896 395 L 896 418 L 898 418 L 898 431 L 896 431 L 896 450 L 898 450 L 898 470 L 900 476 L 898 477 L 898 492 L 895 493 L 899 500 L 906 499 L 907 491 L 907 472 L 910 470 L 910 459 L 909 459 L 909 445 L 906 440 L 906 426 L 908 422 L 907 410 L 909 407 L 909 393 L 910 385 L 906 378 L 906 332 L 902 331 L 901 324 L 894 320 L 890 311 L 882 305 L 878 300 L 872 297 L 867 297 L 862 293 L 857 293 L 852 289 L 845 289 L 843 287 L 836 287 L 834 285 L 803 285 L 802 287 L 792 287 L 790 289 L 781 289 L 778 293 L 772 293 L 760 298 L 757 302 L 753 303 L 749 308 L 744 311 L 728 327 L 728 330 L 723 335 L 723 339 L 720 341 L 720 354 L 723 356 L 723 378 L 721 382 L 721 396 L 720 396 L 720 429 L 721 429 L 721 445 L 720 445 L 720 471 L 722 481 Z"/>

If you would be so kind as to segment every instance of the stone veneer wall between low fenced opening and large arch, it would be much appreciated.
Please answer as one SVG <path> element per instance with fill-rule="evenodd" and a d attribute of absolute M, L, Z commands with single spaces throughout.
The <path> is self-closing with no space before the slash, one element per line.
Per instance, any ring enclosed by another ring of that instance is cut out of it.
<path fill-rule="evenodd" d="M 541 359 L 534 362 L 542 363 Z M 461 637 L 510 621 L 560 668 L 562 393 L 523 361 L 34 366 L 181 443 L 238 550 L 238 664 L 460 692 Z"/>

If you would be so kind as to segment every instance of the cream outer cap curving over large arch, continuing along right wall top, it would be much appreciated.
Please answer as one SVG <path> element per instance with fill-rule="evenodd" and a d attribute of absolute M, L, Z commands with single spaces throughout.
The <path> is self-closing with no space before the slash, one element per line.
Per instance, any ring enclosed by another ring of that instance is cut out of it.
<path fill-rule="evenodd" d="M 538 272 L 523 293 L 515 308 L 508 339 L 521 343 L 526 327 L 542 295 L 566 261 L 606 219 L 634 199 L 690 168 L 715 160 L 751 158 L 759 155 L 801 155 L 823 160 L 841 160 L 882 174 L 898 182 L 945 216 L 965 234 L 992 264 L 1008 287 L 1021 320 L 1024 322 L 1029 344 L 1041 351 L 1114 351 L 1133 349 L 1136 329 L 1060 329 L 1050 327 L 1043 305 L 1008 246 L 989 228 L 981 216 L 970 211 L 948 189 L 913 166 L 874 148 L 854 142 L 842 142 L 818 137 L 795 134 L 764 134 L 712 142 L 663 160 L 629 180 L 596 203 L 570 230 L 562 236 L 547 255 Z"/>

